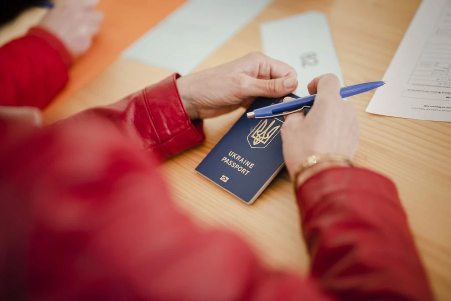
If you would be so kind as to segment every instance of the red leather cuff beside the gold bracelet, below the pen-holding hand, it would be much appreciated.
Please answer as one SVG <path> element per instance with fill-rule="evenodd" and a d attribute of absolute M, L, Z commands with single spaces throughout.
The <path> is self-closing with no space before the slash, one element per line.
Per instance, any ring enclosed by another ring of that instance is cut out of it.
<path fill-rule="evenodd" d="M 336 167 L 318 172 L 299 186 L 297 199 L 301 214 L 304 216 L 322 199 L 342 191 L 364 191 L 383 199 L 398 199 L 396 187 L 388 178 L 368 169 Z"/>

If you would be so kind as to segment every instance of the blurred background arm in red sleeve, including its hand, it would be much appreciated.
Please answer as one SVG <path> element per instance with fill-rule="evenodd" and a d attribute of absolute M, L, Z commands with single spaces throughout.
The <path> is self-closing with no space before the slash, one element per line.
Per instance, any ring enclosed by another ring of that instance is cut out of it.
<path fill-rule="evenodd" d="M 98 0 L 66 0 L 38 26 L 0 48 L 0 105 L 44 108 L 68 81 L 103 19 Z"/>

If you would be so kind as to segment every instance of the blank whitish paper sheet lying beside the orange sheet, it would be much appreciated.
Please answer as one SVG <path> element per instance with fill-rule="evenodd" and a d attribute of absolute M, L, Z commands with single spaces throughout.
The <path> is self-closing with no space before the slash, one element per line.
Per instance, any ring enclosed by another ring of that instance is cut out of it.
<path fill-rule="evenodd" d="M 271 0 L 189 0 L 125 50 L 124 56 L 186 74 L 239 32 Z"/>

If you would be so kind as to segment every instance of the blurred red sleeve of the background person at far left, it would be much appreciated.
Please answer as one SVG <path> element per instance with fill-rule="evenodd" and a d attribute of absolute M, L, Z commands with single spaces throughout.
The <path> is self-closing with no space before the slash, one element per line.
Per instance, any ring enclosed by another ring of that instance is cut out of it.
<path fill-rule="evenodd" d="M 68 81 L 67 50 L 35 28 L 0 48 L 0 105 L 44 108 Z"/>

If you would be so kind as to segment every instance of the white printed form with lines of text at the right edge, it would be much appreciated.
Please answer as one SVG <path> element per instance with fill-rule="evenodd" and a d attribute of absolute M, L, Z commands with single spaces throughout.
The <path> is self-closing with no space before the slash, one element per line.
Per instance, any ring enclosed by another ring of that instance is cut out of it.
<path fill-rule="evenodd" d="M 451 0 L 423 0 L 367 112 L 451 121 Z"/>

